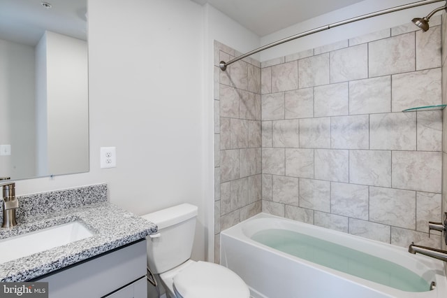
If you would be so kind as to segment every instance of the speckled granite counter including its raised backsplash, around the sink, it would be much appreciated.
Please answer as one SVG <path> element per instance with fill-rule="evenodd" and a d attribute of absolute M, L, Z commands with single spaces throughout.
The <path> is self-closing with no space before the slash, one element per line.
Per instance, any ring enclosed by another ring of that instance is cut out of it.
<path fill-rule="evenodd" d="M 19 197 L 23 206 L 17 215 L 19 225 L 0 229 L 0 239 L 75 220 L 82 222 L 94 235 L 0 264 L 0 281 L 29 281 L 156 233 L 154 223 L 108 203 L 106 185 L 89 186 L 89 190 L 96 193 L 91 197 L 82 194 L 85 187 L 73 190 Z M 91 194 L 89 190 L 87 192 Z M 45 206 L 43 201 L 52 203 Z"/>

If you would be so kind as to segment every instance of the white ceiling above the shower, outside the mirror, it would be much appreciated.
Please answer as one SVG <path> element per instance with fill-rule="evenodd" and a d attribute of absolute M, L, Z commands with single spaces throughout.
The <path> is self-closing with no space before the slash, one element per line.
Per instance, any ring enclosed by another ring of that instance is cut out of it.
<path fill-rule="evenodd" d="M 312 17 L 362 0 L 193 0 L 210 3 L 258 36 L 265 36 Z"/>

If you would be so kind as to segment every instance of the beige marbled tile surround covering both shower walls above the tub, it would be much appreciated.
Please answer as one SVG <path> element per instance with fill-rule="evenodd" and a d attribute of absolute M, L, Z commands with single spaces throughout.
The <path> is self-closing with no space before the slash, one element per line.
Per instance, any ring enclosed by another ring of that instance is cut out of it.
<path fill-rule="evenodd" d="M 253 59 L 220 71 L 238 53 L 215 43 L 217 262 L 219 232 L 261 208 L 397 246 L 440 246 L 427 221 L 441 220 L 442 113 L 402 113 L 441 104 L 440 24 L 263 62 L 261 83 Z"/>

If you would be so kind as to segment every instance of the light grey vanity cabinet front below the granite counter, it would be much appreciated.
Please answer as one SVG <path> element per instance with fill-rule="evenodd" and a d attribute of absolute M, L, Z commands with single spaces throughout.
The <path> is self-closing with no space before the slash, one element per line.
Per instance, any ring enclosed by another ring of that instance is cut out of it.
<path fill-rule="evenodd" d="M 93 257 L 35 281 L 49 298 L 147 298 L 146 240 Z"/>

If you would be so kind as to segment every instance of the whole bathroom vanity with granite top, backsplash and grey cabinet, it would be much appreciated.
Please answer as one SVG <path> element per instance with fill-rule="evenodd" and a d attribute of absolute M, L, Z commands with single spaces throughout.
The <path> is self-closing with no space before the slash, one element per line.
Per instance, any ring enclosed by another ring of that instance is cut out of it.
<path fill-rule="evenodd" d="M 0 281 L 48 282 L 52 298 L 146 298 L 145 237 L 156 233 L 156 225 L 110 204 L 106 192 L 106 185 L 92 185 L 19 197 L 18 225 L 0 229 L 0 245 L 73 222 L 91 236 L 3 261 Z M 30 248 L 41 245 L 39 239 L 30 242 Z"/>

